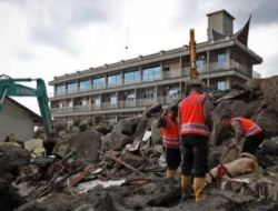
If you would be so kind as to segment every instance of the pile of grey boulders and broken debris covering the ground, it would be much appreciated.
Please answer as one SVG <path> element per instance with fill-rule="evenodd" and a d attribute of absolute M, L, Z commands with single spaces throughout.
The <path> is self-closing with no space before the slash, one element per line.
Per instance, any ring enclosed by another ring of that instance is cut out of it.
<path fill-rule="evenodd" d="M 277 96 L 278 77 L 254 79 L 244 87 L 212 93 L 210 168 L 239 155 L 231 151 L 222 159 L 232 131 L 220 125 L 221 115 L 252 119 L 267 137 L 257 153 L 260 170 L 208 187 L 208 200 L 201 203 L 196 204 L 193 199 L 180 201 L 180 172 L 175 179 L 165 178 L 162 135 L 156 127 L 162 111 L 158 103 L 142 115 L 120 120 L 116 125 L 106 124 L 100 118 L 95 122 L 76 120 L 71 128 L 56 122 L 56 145 L 46 149 L 54 157 L 31 158 L 41 145 L 31 144 L 29 150 L 0 147 L 0 208 L 12 210 L 22 204 L 18 210 L 277 210 Z M 34 138 L 46 141 L 43 129 Z M 13 187 L 10 181 L 14 181 Z M 6 194 L 7 190 L 10 195 Z"/>

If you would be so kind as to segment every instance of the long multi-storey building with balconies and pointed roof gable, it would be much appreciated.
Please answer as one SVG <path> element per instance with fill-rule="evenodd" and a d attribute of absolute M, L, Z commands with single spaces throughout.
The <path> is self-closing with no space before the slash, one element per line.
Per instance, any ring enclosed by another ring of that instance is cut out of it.
<path fill-rule="evenodd" d="M 258 77 L 252 67 L 262 59 L 247 47 L 250 19 L 234 33 L 235 18 L 226 10 L 207 17 L 208 40 L 197 44 L 197 67 L 203 84 L 225 90 Z M 54 77 L 49 82 L 54 87 L 52 117 L 70 123 L 76 118 L 101 115 L 116 122 L 156 102 L 167 105 L 185 94 L 189 66 L 189 47 L 183 46 Z"/>

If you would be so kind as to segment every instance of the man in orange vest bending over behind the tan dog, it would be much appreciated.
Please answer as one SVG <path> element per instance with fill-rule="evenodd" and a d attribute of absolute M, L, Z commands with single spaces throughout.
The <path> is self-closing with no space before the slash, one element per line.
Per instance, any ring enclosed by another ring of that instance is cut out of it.
<path fill-rule="evenodd" d="M 258 127 L 254 121 L 245 118 L 230 118 L 229 115 L 224 115 L 221 118 L 221 124 L 226 128 L 232 129 L 236 137 L 230 148 L 238 145 L 240 139 L 246 138 L 242 152 L 248 152 L 256 155 L 256 151 L 262 143 L 265 135 L 260 127 Z"/>

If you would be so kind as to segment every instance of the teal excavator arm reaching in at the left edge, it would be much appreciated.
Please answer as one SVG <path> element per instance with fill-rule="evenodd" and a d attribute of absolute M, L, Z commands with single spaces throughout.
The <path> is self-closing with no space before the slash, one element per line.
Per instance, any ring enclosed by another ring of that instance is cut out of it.
<path fill-rule="evenodd" d="M 37 81 L 37 89 L 28 88 L 17 82 Z M 42 79 L 12 79 L 7 76 L 0 76 L 0 112 L 6 97 L 36 97 L 38 99 L 42 122 L 46 128 L 48 140 L 51 140 L 54 133 L 52 119 L 48 105 L 47 87 Z"/>

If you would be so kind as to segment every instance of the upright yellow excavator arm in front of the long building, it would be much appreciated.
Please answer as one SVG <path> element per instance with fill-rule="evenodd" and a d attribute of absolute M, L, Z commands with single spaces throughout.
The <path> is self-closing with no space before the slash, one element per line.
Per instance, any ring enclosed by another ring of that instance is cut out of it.
<path fill-rule="evenodd" d="M 186 79 L 185 83 L 186 83 L 186 96 L 189 94 L 190 88 L 193 84 L 201 84 L 202 86 L 202 81 L 201 79 L 199 79 L 198 77 L 198 72 L 197 72 L 197 56 L 196 56 L 196 40 L 195 40 L 195 30 L 190 29 L 190 41 L 189 41 L 189 49 L 190 49 L 190 72 L 189 72 L 189 78 Z M 205 92 L 211 92 L 212 88 L 211 87 L 203 87 L 202 89 Z"/>

